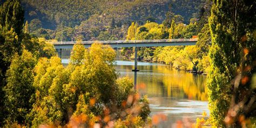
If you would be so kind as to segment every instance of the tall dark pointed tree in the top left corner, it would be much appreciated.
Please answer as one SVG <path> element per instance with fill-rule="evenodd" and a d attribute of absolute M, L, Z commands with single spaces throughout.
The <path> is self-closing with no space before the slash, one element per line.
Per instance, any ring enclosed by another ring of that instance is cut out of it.
<path fill-rule="evenodd" d="M 6 1 L 0 8 L 0 34 L 3 37 L 3 41 L 0 42 L 0 52 L 3 55 L 1 59 L 5 63 L 5 66 L 2 66 L 2 73 L 5 73 L 10 65 L 11 56 L 16 52 L 21 54 L 22 51 L 24 11 L 18 0 Z"/>

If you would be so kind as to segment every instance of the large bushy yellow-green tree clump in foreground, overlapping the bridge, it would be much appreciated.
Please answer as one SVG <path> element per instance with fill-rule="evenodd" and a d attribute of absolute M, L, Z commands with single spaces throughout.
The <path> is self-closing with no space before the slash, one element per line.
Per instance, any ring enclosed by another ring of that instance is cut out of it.
<path fill-rule="evenodd" d="M 96 120 L 96 116 L 113 116 L 113 120 L 117 120 L 122 117 L 121 111 L 124 107 L 132 108 L 136 105 L 141 108 L 136 115 L 139 114 L 141 120 L 145 121 L 150 112 L 149 103 L 145 98 L 136 101 L 134 97 L 131 106 L 124 106 L 127 97 L 135 92 L 132 90 L 133 84 L 130 79 L 117 79 L 114 50 L 110 46 L 98 43 L 92 44 L 89 50 L 82 46 L 74 46 L 72 61 L 66 67 L 61 64 L 58 57 L 39 59 L 33 82 L 36 102 L 28 115 L 32 126 L 64 126 L 82 117 L 86 120 L 78 123 L 79 125 L 91 126 L 90 124 L 97 122 L 104 126 L 105 121 Z M 112 93 L 109 93 L 110 91 Z M 106 110 L 109 112 L 106 113 Z"/>

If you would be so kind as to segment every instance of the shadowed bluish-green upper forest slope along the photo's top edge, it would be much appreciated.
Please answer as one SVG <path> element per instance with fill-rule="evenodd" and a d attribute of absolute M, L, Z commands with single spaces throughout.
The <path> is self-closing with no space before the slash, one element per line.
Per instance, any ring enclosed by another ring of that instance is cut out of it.
<path fill-rule="evenodd" d="M 117 21 L 141 21 L 152 17 L 161 23 L 165 19 L 167 11 L 185 17 L 185 23 L 189 23 L 193 14 L 199 12 L 205 1 L 39 1 L 22 0 L 25 11 L 25 19 L 39 19 L 43 28 L 54 29 L 64 22 L 65 26 L 75 27 L 83 21 L 95 21 L 98 17 L 105 16 L 104 25 L 107 25 L 112 17 Z M 48 22 L 51 22 L 50 27 Z"/>

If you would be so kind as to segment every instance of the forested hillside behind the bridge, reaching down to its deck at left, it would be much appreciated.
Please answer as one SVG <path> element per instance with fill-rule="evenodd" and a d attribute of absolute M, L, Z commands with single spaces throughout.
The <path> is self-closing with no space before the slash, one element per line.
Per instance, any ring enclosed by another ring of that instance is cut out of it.
<path fill-rule="evenodd" d="M 60 40 L 63 26 L 63 41 L 125 39 L 131 22 L 146 21 L 164 23 L 170 27 L 169 19 L 179 15 L 184 23 L 198 17 L 205 0 L 195 1 L 41 1 L 22 0 L 25 21 L 30 33 L 46 39 Z"/>

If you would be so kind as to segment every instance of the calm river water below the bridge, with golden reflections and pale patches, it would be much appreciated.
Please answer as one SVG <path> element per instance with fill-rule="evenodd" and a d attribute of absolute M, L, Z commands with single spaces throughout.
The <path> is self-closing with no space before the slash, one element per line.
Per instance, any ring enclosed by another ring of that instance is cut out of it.
<path fill-rule="evenodd" d="M 134 62 L 117 60 L 120 77 L 134 79 Z M 151 117 L 158 127 L 176 127 L 177 123 L 196 123 L 208 111 L 206 76 L 178 71 L 170 65 L 138 62 L 137 90 L 150 100 Z M 167 117 L 167 118 L 166 118 Z"/>

